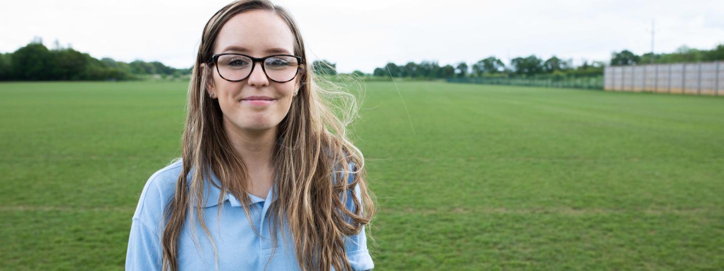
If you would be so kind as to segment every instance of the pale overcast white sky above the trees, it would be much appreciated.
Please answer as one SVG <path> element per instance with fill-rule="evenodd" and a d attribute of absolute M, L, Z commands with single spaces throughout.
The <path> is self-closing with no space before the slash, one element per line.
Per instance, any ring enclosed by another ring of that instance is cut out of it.
<path fill-rule="evenodd" d="M 0 9 L 0 52 L 34 36 L 96 58 L 193 64 L 203 25 L 229 1 L 12 1 Z M 724 0 L 332 1 L 279 0 L 298 21 L 311 59 L 340 72 L 388 61 L 468 64 L 536 54 L 610 59 L 612 51 L 672 52 L 724 43 Z"/>

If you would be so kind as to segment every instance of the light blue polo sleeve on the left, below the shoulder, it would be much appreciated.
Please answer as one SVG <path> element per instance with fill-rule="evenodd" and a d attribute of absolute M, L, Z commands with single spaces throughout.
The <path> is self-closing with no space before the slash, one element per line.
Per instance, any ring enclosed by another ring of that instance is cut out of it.
<path fill-rule="evenodd" d="M 135 218 L 128 237 L 126 270 L 161 270 L 159 234 Z"/>

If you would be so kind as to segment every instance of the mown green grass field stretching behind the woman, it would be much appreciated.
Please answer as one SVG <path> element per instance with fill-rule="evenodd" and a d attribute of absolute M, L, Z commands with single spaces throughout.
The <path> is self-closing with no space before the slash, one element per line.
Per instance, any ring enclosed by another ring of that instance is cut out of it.
<path fill-rule="evenodd" d="M 724 98 L 370 82 L 376 270 L 723 270 Z M 179 82 L 0 84 L 2 270 L 122 270 Z"/>

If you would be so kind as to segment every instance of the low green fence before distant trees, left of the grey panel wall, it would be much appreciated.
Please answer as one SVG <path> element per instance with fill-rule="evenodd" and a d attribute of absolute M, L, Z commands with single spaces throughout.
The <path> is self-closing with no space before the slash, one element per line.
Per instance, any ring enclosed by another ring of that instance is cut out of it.
<path fill-rule="evenodd" d="M 484 85 L 521 85 L 527 87 L 570 87 L 591 90 L 603 89 L 603 77 L 578 78 L 515 78 L 515 77 L 473 77 L 473 78 L 447 78 L 447 82 L 473 83 Z"/>

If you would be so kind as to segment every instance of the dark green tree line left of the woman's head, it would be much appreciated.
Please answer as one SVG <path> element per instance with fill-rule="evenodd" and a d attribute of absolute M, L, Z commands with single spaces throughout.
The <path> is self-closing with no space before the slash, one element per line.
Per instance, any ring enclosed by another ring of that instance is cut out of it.
<path fill-rule="evenodd" d="M 96 59 L 73 48 L 43 45 L 35 38 L 12 53 L 0 53 L 0 80 L 127 80 L 144 75 L 182 77 L 191 69 L 176 69 L 159 61 L 126 63 L 111 58 Z"/>

